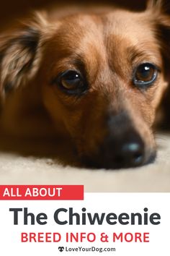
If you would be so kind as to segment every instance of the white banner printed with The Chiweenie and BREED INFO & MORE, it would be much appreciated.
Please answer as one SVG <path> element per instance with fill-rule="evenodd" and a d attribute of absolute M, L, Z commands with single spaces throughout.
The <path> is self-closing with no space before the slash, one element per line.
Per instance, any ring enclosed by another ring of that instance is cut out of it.
<path fill-rule="evenodd" d="M 169 255 L 169 193 L 0 201 L 1 255 Z"/>

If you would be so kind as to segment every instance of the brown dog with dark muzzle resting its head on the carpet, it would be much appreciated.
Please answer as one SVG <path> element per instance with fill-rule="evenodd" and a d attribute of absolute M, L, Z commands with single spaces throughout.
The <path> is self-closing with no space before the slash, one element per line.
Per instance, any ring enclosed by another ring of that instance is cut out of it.
<path fill-rule="evenodd" d="M 1 35 L 2 129 L 68 137 L 89 168 L 152 163 L 153 124 L 169 85 L 169 35 L 164 0 L 141 12 L 37 12 Z"/>

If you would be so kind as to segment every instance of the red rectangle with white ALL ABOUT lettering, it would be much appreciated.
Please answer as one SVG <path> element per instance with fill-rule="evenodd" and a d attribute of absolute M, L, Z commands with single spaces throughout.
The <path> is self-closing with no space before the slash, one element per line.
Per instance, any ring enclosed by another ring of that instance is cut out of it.
<path fill-rule="evenodd" d="M 84 200 L 84 186 L 0 185 L 0 200 Z"/>

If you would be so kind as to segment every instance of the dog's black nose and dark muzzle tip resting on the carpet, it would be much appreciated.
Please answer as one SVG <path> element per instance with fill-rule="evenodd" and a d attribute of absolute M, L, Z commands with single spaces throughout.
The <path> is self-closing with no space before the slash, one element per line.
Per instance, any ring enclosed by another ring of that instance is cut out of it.
<path fill-rule="evenodd" d="M 92 168 L 130 168 L 142 166 L 146 161 L 145 144 L 137 132 L 107 136 L 96 155 L 86 158 L 85 164 Z"/>

